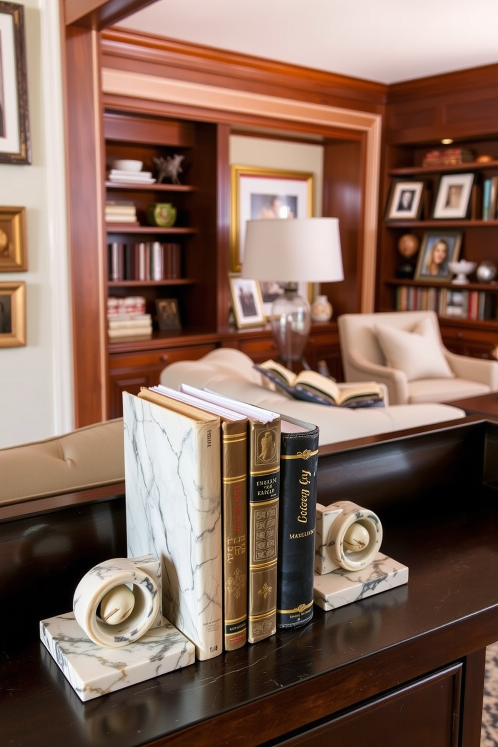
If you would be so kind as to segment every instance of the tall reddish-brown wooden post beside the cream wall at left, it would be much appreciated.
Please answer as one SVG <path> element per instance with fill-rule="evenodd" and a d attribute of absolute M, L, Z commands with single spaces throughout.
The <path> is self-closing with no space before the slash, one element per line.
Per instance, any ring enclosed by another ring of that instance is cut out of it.
<path fill-rule="evenodd" d="M 75 425 L 105 419 L 102 132 L 95 32 L 66 28 L 66 117 Z"/>

